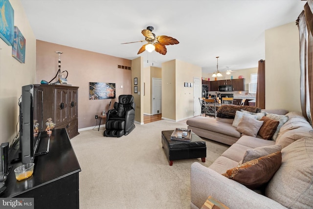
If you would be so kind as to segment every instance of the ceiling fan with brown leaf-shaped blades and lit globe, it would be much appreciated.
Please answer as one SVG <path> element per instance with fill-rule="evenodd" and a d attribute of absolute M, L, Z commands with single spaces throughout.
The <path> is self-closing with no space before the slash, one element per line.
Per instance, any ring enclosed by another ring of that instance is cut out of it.
<path fill-rule="evenodd" d="M 170 36 L 156 36 L 153 31 L 153 26 L 148 26 L 147 29 L 144 29 L 141 31 L 142 35 L 145 38 L 145 40 L 137 41 L 137 42 L 148 42 L 147 44 L 141 46 L 137 54 L 140 54 L 144 52 L 145 50 L 152 52 L 153 50 L 156 50 L 156 52 L 165 55 L 167 50 L 165 45 L 175 45 L 179 44 L 179 41 L 174 39 Z M 122 43 L 122 44 L 131 44 L 131 43 L 137 43 L 137 42 L 128 42 L 128 43 Z"/>

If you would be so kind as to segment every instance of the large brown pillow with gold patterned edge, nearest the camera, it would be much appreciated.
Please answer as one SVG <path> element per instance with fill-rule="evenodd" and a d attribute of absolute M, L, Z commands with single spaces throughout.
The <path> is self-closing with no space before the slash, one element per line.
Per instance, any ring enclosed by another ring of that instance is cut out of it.
<path fill-rule="evenodd" d="M 238 165 L 222 175 L 250 189 L 255 189 L 267 183 L 281 163 L 282 153 L 276 152 Z"/>

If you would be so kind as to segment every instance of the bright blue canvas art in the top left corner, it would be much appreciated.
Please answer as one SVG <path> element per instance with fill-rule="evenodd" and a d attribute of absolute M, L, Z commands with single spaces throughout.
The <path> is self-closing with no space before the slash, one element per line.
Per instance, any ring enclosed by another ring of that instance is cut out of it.
<path fill-rule="evenodd" d="M 14 10 L 9 0 L 0 0 L 0 38 L 9 46 L 14 40 Z"/>

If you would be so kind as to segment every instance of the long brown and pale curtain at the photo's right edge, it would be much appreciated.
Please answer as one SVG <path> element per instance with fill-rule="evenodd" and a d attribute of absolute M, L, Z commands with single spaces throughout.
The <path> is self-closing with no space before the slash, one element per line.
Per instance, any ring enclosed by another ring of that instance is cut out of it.
<path fill-rule="evenodd" d="M 298 17 L 300 40 L 300 102 L 302 115 L 312 125 L 313 111 L 313 0 L 308 0 Z"/>

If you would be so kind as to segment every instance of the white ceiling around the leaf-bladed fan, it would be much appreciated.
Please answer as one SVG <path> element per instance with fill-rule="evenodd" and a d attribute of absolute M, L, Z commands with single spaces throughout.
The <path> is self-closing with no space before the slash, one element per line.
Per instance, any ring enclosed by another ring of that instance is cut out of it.
<path fill-rule="evenodd" d="M 144 65 L 178 59 L 202 72 L 255 68 L 265 59 L 265 30 L 295 22 L 301 0 L 21 0 L 38 40 L 126 59 L 138 57 L 142 29 L 176 38 L 167 54 L 147 51 Z M 294 25 L 296 27 L 296 25 Z M 148 63 L 147 63 L 148 61 Z"/>

